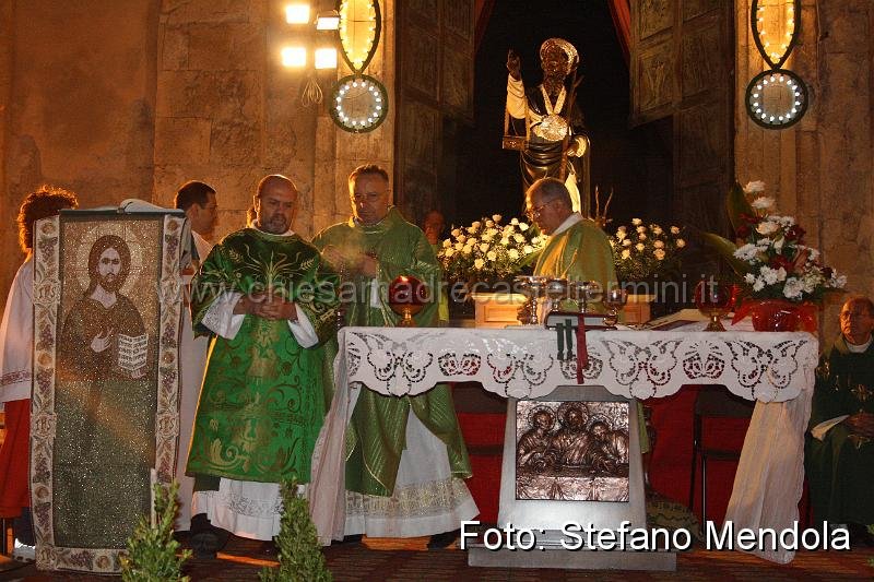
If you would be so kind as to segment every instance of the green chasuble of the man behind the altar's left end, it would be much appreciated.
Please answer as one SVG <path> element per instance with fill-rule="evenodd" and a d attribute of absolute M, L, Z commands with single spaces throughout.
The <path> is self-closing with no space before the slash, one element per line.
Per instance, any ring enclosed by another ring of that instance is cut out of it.
<path fill-rule="evenodd" d="M 430 245 L 420 228 L 408 223 L 397 209 L 376 225 L 364 226 L 350 219 L 330 226 L 312 239 L 320 250 L 328 246 L 345 253 L 370 252 L 377 257 L 379 297 L 374 297 L 373 280 L 352 278 L 354 297 L 347 305 L 349 325 L 394 326 L 401 319 L 386 300 L 386 289 L 399 275 L 413 275 L 430 289 L 437 289 L 440 268 Z M 347 295 L 346 289 L 341 296 Z M 428 304 L 414 316 L 416 325 L 434 325 L 437 302 Z M 385 396 L 362 390 L 346 432 L 346 489 L 375 496 L 391 496 L 406 436 L 406 419 L 413 413 L 446 443 L 452 476 L 471 475 L 468 450 L 461 438 L 452 394 L 446 384 L 417 396 Z"/>

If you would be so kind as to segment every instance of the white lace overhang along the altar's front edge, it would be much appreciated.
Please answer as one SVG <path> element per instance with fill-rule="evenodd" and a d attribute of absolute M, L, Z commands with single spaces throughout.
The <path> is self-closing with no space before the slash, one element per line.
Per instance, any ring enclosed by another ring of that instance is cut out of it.
<path fill-rule="evenodd" d="M 590 331 L 586 342 L 584 383 L 637 399 L 723 384 L 748 400 L 787 401 L 813 387 L 818 358 L 808 333 Z M 470 381 L 501 396 L 544 396 L 577 383 L 576 357 L 558 359 L 557 346 L 541 326 L 346 328 L 341 336 L 349 381 L 389 395 Z"/>

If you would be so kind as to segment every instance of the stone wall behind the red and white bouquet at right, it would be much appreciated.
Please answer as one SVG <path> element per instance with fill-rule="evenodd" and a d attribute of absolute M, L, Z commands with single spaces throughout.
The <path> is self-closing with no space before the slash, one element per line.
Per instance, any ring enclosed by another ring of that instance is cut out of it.
<path fill-rule="evenodd" d="M 746 85 L 765 64 L 749 28 L 752 0 L 735 5 L 737 179 L 764 180 L 780 212 L 807 230 L 807 244 L 848 275 L 848 288 L 872 295 L 874 3 L 802 1 L 800 43 L 783 68 L 807 83 L 810 107 L 781 131 L 759 128 L 744 109 Z M 820 319 L 825 337 L 838 330 L 839 304 L 840 298 L 831 301 Z"/>

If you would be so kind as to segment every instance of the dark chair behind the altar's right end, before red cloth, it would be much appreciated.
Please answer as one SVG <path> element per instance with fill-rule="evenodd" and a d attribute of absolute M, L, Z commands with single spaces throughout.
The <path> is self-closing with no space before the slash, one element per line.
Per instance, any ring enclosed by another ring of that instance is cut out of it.
<path fill-rule="evenodd" d="M 709 443 L 702 438 L 701 428 L 705 420 L 717 418 L 749 418 L 753 415 L 755 401 L 735 396 L 721 385 L 706 385 L 695 399 L 695 416 L 692 438 L 692 478 L 689 482 L 689 510 L 694 511 L 695 474 L 698 456 L 701 458 L 701 523 L 707 521 L 707 460 L 737 461 L 740 450 L 728 450 L 720 443 Z"/>

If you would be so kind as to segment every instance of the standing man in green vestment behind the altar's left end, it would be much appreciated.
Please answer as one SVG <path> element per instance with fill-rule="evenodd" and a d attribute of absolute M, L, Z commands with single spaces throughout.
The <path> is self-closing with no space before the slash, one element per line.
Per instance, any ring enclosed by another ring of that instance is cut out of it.
<path fill-rule="evenodd" d="M 385 169 L 359 166 L 349 188 L 353 216 L 319 233 L 312 244 L 345 283 L 354 284 L 346 322 L 393 326 L 400 317 L 387 302 L 388 285 L 399 275 L 413 275 L 437 289 L 439 265 L 422 230 L 390 205 Z M 436 317 L 436 301 L 414 316 L 420 326 L 435 325 Z M 434 535 L 475 516 L 479 511 L 462 480 L 471 470 L 449 387 L 403 397 L 355 392 L 346 438 L 345 534 Z M 432 547 L 452 539 L 435 535 Z"/>

